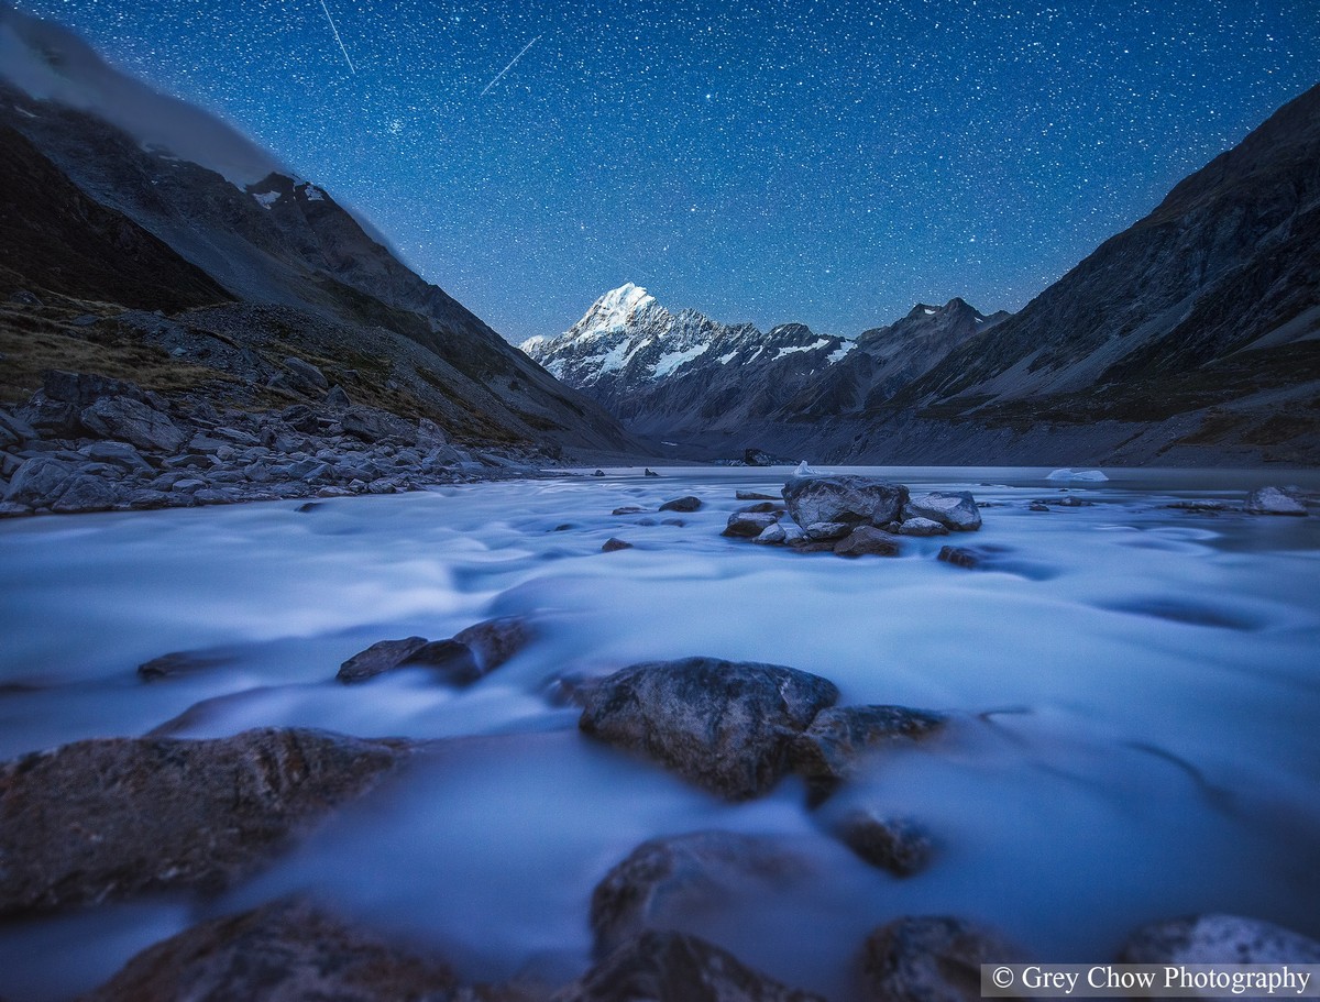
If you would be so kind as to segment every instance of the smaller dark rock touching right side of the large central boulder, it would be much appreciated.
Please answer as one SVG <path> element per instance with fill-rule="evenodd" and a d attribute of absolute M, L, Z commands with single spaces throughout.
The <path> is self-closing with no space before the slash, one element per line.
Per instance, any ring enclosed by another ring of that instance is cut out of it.
<path fill-rule="evenodd" d="M 851 775 L 866 751 L 928 738 L 946 722 L 942 713 L 907 706 L 832 706 L 822 709 L 792 743 L 793 768 L 807 778 L 813 800 L 829 795 Z"/>

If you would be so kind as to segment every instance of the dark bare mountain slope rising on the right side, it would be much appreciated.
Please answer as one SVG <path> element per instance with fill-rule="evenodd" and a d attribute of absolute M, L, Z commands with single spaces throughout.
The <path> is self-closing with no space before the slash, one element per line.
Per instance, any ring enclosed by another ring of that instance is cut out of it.
<path fill-rule="evenodd" d="M 871 417 L 1315 461 L 1320 86 Z"/>

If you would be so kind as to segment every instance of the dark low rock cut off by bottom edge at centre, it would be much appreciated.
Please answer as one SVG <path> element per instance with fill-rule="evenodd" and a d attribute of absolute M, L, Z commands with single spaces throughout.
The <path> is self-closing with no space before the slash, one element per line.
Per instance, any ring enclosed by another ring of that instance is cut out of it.
<path fill-rule="evenodd" d="M 645 932 L 550 1002 L 824 1002 L 696 936 Z"/>

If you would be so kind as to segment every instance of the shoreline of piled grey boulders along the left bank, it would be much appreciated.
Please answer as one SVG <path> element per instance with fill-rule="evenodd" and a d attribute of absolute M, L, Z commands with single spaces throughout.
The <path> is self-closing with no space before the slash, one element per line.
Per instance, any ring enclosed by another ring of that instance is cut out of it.
<path fill-rule="evenodd" d="M 356 405 L 300 359 L 288 360 L 286 379 L 322 399 L 220 411 L 48 371 L 26 404 L 0 408 L 0 518 L 397 494 L 536 475 L 549 461 L 531 449 L 465 448 L 429 418 Z"/>

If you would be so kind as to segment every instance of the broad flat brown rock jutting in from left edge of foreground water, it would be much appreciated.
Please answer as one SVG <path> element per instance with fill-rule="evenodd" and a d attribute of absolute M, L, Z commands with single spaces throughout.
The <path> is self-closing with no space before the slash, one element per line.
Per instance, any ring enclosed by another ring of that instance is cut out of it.
<path fill-rule="evenodd" d="M 79 741 L 0 766 L 0 919 L 215 891 L 372 785 L 404 746 L 318 730 Z"/>

